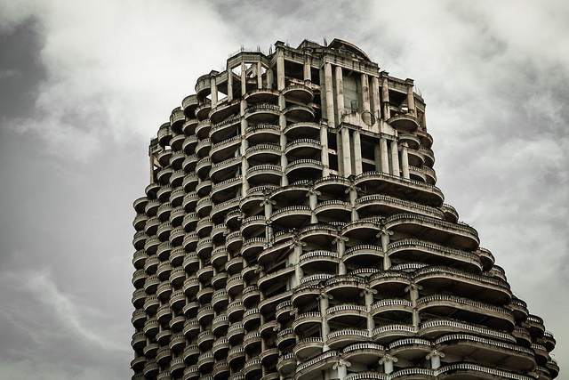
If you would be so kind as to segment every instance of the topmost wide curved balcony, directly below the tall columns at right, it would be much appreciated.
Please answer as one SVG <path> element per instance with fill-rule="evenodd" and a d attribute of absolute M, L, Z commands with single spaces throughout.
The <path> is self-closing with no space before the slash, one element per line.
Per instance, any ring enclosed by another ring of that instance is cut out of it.
<path fill-rule="evenodd" d="M 426 206 L 442 206 L 445 199 L 443 192 L 433 185 L 381 172 L 359 174 L 354 184 L 367 194 L 385 194 L 396 198 L 405 194 L 407 200 Z"/>

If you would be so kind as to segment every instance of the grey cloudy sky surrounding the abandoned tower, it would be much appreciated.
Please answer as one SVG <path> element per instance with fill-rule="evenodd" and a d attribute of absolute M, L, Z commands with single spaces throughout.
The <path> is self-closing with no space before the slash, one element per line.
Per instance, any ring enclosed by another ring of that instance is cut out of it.
<path fill-rule="evenodd" d="M 130 378 L 148 141 L 241 46 L 334 37 L 415 80 L 437 185 L 545 319 L 563 369 L 567 20 L 564 0 L 0 0 L 0 377 Z"/>

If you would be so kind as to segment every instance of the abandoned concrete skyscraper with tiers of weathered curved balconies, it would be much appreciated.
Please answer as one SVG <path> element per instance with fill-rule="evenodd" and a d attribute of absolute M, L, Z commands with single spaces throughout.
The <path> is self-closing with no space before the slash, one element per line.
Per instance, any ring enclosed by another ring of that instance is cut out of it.
<path fill-rule="evenodd" d="M 353 44 L 199 77 L 149 146 L 132 379 L 552 379 L 554 337 L 436 187 L 425 103 Z"/>

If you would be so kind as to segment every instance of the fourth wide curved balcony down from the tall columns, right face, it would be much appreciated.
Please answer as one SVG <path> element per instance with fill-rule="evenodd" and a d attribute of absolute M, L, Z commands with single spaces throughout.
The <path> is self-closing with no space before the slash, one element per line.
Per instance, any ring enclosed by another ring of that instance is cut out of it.
<path fill-rule="evenodd" d="M 482 270 L 476 254 L 445 247 L 444 242 L 439 245 L 421 239 L 401 239 L 389 244 L 388 255 L 394 262 L 442 264 L 473 272 Z"/>

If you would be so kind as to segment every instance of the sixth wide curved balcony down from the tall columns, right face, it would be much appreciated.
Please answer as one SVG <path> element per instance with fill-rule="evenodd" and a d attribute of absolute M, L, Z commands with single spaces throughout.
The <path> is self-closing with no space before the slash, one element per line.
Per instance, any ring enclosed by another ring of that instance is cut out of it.
<path fill-rule="evenodd" d="M 417 310 L 478 325 L 511 331 L 516 325 L 512 312 L 500 306 L 454 295 L 427 295 L 417 301 Z"/>

